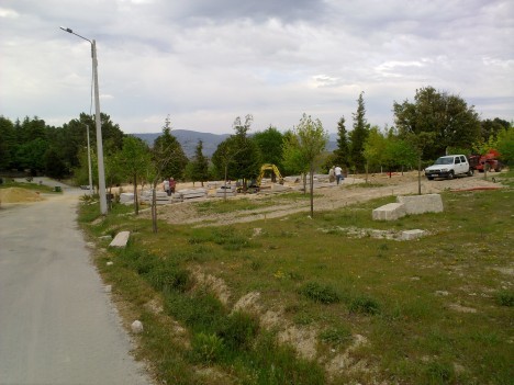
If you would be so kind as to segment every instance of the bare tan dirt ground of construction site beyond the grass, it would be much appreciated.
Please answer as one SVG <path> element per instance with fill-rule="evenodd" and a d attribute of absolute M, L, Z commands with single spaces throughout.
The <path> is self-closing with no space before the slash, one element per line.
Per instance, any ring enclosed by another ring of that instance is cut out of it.
<path fill-rule="evenodd" d="M 443 191 L 459 191 L 469 189 L 491 189 L 500 188 L 501 172 L 488 173 L 488 180 L 484 180 L 483 173 L 476 173 L 473 177 L 456 178 L 454 180 L 434 180 L 428 181 L 422 177 L 422 194 L 439 193 Z M 393 173 L 391 177 L 387 173 L 368 175 L 350 175 L 342 184 L 324 183 L 314 188 L 314 211 L 331 211 L 344 207 L 358 202 L 366 202 L 377 197 L 391 195 L 417 194 L 418 181 L 417 172 Z M 257 194 L 237 194 L 227 200 L 272 200 L 276 194 L 282 194 L 291 191 L 298 191 L 301 183 L 286 182 L 286 186 L 291 188 L 281 192 L 273 193 L 271 189 L 262 190 Z M 199 184 L 197 183 L 197 188 Z M 179 184 L 180 189 L 191 189 L 191 183 Z M 223 200 L 222 197 L 208 197 L 203 200 Z M 247 223 L 260 219 L 284 217 L 290 214 L 309 212 L 309 200 L 277 200 L 276 205 L 266 205 L 261 208 L 231 212 L 226 214 L 202 213 L 195 208 L 193 202 L 199 200 L 174 203 L 171 205 L 159 207 L 159 219 L 170 224 L 198 224 L 198 226 L 220 226 L 236 223 Z M 149 215 L 149 214 L 148 214 Z"/>

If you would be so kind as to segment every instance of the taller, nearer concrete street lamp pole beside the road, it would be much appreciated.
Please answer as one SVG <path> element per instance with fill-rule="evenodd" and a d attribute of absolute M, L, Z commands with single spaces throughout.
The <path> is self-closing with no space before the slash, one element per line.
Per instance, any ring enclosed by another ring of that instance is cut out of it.
<path fill-rule="evenodd" d="M 63 31 L 68 32 L 75 36 L 78 36 L 91 44 L 91 57 L 93 68 L 93 81 L 94 81 L 94 107 L 96 107 L 96 123 L 97 123 L 97 156 L 98 156 L 98 193 L 100 194 L 100 213 L 105 215 L 108 212 L 107 206 L 107 194 L 105 194 L 105 171 L 103 168 L 103 141 L 102 141 L 102 123 L 100 120 L 100 92 L 98 89 L 98 60 L 97 60 L 97 43 L 94 39 L 90 41 L 79 34 L 76 34 L 72 30 L 65 26 L 60 27 Z M 89 133 L 89 128 L 88 128 Z"/>

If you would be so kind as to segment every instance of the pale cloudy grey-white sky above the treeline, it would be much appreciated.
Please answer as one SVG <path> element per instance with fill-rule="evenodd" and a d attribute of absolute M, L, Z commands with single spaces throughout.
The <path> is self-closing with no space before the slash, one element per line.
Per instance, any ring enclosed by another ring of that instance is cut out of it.
<path fill-rule="evenodd" d="M 514 120 L 512 0 L 0 0 L 0 115 L 62 126 L 91 107 L 124 133 L 394 125 L 434 87 L 481 118 Z"/>

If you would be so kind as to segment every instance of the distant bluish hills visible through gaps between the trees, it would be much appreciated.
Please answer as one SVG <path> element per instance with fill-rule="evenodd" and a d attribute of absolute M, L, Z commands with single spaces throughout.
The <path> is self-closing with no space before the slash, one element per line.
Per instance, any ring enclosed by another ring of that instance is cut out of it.
<path fill-rule="evenodd" d="M 145 140 L 149 146 L 154 145 L 155 139 L 157 139 L 163 133 L 150 133 L 150 134 L 132 134 L 135 137 L 138 137 Z M 194 156 L 194 149 L 197 148 L 198 140 L 203 143 L 203 155 L 206 157 L 212 157 L 220 143 L 225 140 L 231 134 L 211 134 L 211 133 L 200 133 L 198 131 L 190 129 L 174 129 L 171 131 L 177 140 L 182 146 L 183 151 L 188 158 Z M 336 147 L 337 134 L 329 134 L 329 141 L 327 144 L 327 150 L 333 151 Z"/>

